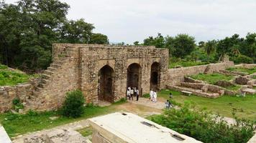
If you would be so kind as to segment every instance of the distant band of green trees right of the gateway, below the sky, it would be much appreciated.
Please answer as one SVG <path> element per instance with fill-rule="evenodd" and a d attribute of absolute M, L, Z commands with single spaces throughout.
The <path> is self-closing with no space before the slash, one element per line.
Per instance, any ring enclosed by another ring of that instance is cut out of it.
<path fill-rule="evenodd" d="M 138 41 L 134 42 L 139 45 Z M 245 38 L 234 34 L 221 40 L 200 41 L 196 44 L 193 36 L 178 34 L 177 36 L 149 36 L 142 45 L 153 45 L 167 48 L 172 59 L 202 60 L 216 62 L 224 55 L 229 55 L 235 63 L 253 63 L 256 61 L 256 33 L 248 33 Z"/>

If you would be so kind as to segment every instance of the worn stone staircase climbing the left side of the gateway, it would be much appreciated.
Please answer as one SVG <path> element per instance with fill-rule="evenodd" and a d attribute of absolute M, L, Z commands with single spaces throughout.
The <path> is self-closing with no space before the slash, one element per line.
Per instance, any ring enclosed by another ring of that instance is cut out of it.
<path fill-rule="evenodd" d="M 42 91 L 44 87 L 47 86 L 47 84 L 50 84 L 52 81 L 52 75 L 55 74 L 55 71 L 58 71 L 58 69 L 62 66 L 63 63 L 67 59 L 69 59 L 73 53 L 75 52 L 75 49 L 72 47 L 65 47 L 63 51 L 58 54 L 58 57 L 53 57 L 52 64 L 50 64 L 49 67 L 43 72 L 41 76 L 41 81 L 38 84 L 37 87 L 35 87 L 35 90 L 32 92 L 32 98 L 37 97 L 38 94 Z"/>

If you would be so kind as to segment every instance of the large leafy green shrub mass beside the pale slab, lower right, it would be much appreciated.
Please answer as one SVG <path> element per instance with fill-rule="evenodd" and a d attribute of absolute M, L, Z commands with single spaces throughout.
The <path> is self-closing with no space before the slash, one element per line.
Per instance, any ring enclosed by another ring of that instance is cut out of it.
<path fill-rule="evenodd" d="M 237 119 L 237 123 L 229 125 L 221 117 L 213 117 L 209 112 L 198 110 L 188 103 L 180 109 L 166 110 L 164 114 L 149 119 L 206 143 L 247 142 L 255 130 L 253 122 L 249 120 Z"/>

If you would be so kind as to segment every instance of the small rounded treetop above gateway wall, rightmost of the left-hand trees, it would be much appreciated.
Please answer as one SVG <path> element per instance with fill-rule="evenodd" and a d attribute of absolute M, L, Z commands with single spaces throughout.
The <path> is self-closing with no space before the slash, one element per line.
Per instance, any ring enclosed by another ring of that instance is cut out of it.
<path fill-rule="evenodd" d="M 104 34 L 91 34 L 89 44 L 109 44 L 109 39 Z"/>

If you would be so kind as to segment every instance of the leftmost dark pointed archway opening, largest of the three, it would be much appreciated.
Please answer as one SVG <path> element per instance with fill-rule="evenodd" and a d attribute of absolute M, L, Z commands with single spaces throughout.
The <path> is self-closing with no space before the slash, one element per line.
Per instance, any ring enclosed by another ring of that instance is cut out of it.
<path fill-rule="evenodd" d="M 103 66 L 99 70 L 99 100 L 114 102 L 114 70 L 109 66 Z"/>

